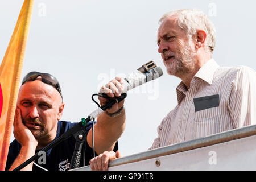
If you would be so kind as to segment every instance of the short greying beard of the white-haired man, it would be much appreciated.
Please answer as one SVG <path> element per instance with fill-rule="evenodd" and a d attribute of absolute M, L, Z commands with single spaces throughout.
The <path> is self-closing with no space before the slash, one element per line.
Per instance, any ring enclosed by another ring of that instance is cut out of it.
<path fill-rule="evenodd" d="M 188 44 L 184 46 L 179 44 L 179 47 L 175 59 L 170 64 L 166 64 L 167 73 L 177 77 L 193 71 L 196 55 L 195 50 L 192 50 Z"/>

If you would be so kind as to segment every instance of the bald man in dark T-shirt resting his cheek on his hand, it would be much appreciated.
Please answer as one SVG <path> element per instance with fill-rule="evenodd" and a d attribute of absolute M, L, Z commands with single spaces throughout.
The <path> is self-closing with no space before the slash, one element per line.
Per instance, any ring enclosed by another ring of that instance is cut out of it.
<path fill-rule="evenodd" d="M 24 77 L 19 89 L 14 119 L 15 140 L 10 144 L 6 169 L 15 169 L 76 125 L 76 123 L 60 121 L 65 105 L 62 97 L 59 82 L 52 75 L 30 72 Z M 101 101 L 101 104 L 105 102 Z M 116 104 L 108 110 L 108 114 L 102 113 L 97 119 L 94 126 L 96 155 L 118 149 L 117 139 L 125 129 L 125 110 L 122 109 L 117 117 L 110 117 L 109 114 L 117 113 L 117 108 Z M 115 122 L 116 119 L 118 122 Z M 89 122 L 85 129 L 88 135 L 85 143 L 85 164 L 89 164 L 89 160 L 93 158 L 91 127 L 92 123 Z M 47 151 L 45 161 L 30 163 L 23 170 L 38 171 L 42 168 L 49 171 L 67 170 L 74 147 L 75 139 L 68 138 Z"/>

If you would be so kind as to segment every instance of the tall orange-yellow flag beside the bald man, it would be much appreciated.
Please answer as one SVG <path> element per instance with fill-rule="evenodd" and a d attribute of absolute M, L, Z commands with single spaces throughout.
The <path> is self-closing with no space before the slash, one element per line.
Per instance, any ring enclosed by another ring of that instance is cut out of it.
<path fill-rule="evenodd" d="M 0 170 L 5 170 L 34 0 L 24 0 L 0 65 Z"/>

